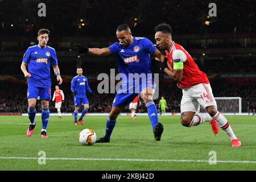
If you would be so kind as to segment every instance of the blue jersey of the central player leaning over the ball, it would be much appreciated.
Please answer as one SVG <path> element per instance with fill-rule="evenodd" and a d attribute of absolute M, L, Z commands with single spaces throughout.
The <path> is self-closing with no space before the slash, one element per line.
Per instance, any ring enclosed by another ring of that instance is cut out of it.
<path fill-rule="evenodd" d="M 147 75 L 152 73 L 150 55 L 156 47 L 147 38 L 133 37 L 133 43 L 128 47 L 116 42 L 108 47 L 112 55 L 117 57 L 118 72 L 126 75 L 138 73 Z M 131 82 L 131 80 L 122 79 L 122 83 Z"/>

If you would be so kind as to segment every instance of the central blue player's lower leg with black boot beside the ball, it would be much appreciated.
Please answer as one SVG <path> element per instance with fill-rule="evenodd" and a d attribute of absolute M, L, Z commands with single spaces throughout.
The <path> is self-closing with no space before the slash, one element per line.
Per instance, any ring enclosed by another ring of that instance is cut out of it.
<path fill-rule="evenodd" d="M 115 122 L 117 121 L 118 115 L 121 111 L 125 108 L 125 106 L 113 106 L 112 110 L 109 113 L 108 120 L 106 122 L 106 131 L 105 136 L 96 140 L 96 143 L 109 143 L 110 142 L 110 135 L 115 127 Z"/>

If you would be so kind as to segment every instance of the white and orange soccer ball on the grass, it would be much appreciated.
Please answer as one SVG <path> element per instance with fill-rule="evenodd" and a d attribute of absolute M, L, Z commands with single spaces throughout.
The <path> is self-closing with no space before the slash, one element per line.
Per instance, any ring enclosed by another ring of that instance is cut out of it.
<path fill-rule="evenodd" d="M 84 146 L 91 146 L 96 142 L 96 133 L 92 129 L 84 129 L 79 134 L 79 142 Z"/>

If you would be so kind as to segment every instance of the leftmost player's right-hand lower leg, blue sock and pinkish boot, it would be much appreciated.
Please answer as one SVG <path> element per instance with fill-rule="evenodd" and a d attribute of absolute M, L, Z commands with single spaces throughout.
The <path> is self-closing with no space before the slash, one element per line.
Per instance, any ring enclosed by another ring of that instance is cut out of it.
<path fill-rule="evenodd" d="M 46 128 L 49 122 L 49 100 L 42 100 L 42 130 L 41 138 L 48 138 L 46 134 Z"/>

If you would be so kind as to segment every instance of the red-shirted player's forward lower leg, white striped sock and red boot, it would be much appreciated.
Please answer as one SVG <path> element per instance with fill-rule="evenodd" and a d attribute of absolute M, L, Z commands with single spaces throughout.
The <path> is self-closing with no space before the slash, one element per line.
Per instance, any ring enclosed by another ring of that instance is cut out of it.
<path fill-rule="evenodd" d="M 218 126 L 221 127 L 222 130 L 225 131 L 225 133 L 229 136 L 231 143 L 232 143 L 232 147 L 240 147 L 241 146 L 241 142 L 240 139 L 238 139 L 236 137 L 236 135 L 234 134 L 231 126 L 229 125 L 228 120 L 224 117 L 224 115 L 222 115 L 215 106 L 208 106 L 205 108 L 207 110 L 207 112 L 209 113 L 209 115 L 218 123 Z"/>

